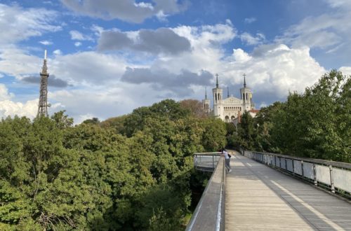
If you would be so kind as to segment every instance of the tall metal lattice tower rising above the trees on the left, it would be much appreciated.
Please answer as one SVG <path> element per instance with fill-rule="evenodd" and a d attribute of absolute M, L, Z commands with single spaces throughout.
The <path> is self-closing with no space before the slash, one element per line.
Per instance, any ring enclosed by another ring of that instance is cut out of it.
<path fill-rule="evenodd" d="M 46 50 L 43 68 L 40 73 L 40 97 L 37 116 L 48 116 L 48 66 L 46 66 Z"/>

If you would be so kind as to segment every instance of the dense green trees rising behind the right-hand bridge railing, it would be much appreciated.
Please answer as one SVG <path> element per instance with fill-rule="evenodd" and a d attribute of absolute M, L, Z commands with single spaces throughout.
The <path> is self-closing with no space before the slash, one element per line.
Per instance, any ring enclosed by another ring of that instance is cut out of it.
<path fill-rule="evenodd" d="M 256 118 L 244 113 L 237 134 L 234 144 L 246 149 L 351 162 L 350 76 L 333 70 Z"/>

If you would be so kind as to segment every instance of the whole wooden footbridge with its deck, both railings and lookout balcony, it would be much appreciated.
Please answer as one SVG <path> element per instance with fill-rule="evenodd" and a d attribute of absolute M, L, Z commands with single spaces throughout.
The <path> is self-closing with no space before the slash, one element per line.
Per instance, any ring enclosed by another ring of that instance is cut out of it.
<path fill-rule="evenodd" d="M 195 153 L 212 171 L 187 230 L 351 230 L 351 165 L 272 153 Z"/>

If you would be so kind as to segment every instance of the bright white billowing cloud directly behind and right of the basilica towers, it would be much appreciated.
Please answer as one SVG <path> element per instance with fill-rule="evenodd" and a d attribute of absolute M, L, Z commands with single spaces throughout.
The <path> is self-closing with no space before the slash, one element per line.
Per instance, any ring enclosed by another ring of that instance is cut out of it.
<path fill-rule="evenodd" d="M 243 62 L 242 58 L 237 60 L 238 52 L 239 57 L 245 57 L 246 61 Z M 267 97 L 264 94 L 284 99 L 289 91 L 303 92 L 305 87 L 314 84 L 326 72 L 310 56 L 310 49 L 307 47 L 260 45 L 252 54 L 234 50 L 233 57 L 225 76 L 238 76 L 239 78 L 232 78 L 230 83 L 241 85 L 241 75 L 246 73 L 246 83 L 263 97 L 259 101 L 265 101 Z"/>

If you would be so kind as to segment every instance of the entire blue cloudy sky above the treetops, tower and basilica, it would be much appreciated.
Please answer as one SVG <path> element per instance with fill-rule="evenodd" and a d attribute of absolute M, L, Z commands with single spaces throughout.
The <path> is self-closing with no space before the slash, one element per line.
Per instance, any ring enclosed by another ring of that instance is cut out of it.
<path fill-rule="evenodd" d="M 246 73 L 256 109 L 351 74 L 349 0 L 0 0 L 0 118 L 48 109 L 75 123 L 163 99 L 234 97 Z"/>

